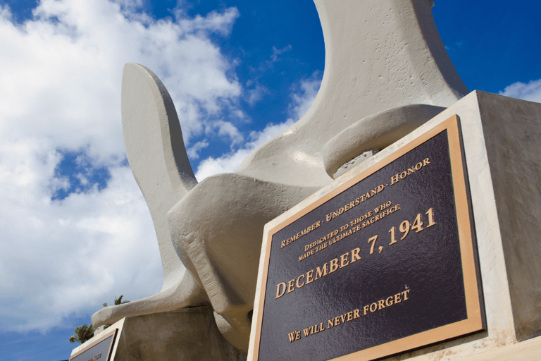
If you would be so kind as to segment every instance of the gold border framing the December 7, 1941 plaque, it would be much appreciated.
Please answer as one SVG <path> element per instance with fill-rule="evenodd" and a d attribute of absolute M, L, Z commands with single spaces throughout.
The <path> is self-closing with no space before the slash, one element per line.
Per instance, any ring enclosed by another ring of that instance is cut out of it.
<path fill-rule="evenodd" d="M 466 162 L 464 159 L 464 152 L 461 143 L 461 134 L 459 130 L 459 117 L 454 116 L 442 121 L 434 128 L 426 131 L 422 135 L 419 135 L 411 142 L 407 143 L 403 147 L 397 149 L 387 157 L 378 161 L 368 167 L 368 169 L 357 174 L 348 181 L 337 186 L 337 188 L 330 190 L 330 192 L 321 196 L 317 200 L 314 200 L 311 204 L 301 209 L 299 212 L 280 222 L 277 226 L 270 228 L 263 234 L 263 243 L 261 245 L 261 260 L 258 276 L 258 286 L 256 289 L 256 299 L 254 302 L 254 327 L 252 327 L 251 336 L 251 350 L 249 350 L 249 361 L 259 360 L 259 343 L 261 342 L 261 323 L 263 318 L 263 306 L 265 302 L 266 283 L 268 277 L 268 264 L 270 259 L 270 246 L 272 244 L 273 235 L 280 231 L 285 226 L 292 224 L 297 219 L 308 214 L 313 209 L 321 206 L 321 204 L 327 202 L 332 197 L 339 195 L 344 190 L 352 187 L 359 181 L 370 176 L 372 173 L 379 171 L 387 164 L 402 157 L 407 152 L 411 151 L 415 147 L 428 141 L 430 138 L 447 130 L 447 138 L 449 141 L 449 156 L 451 160 L 452 182 L 454 188 L 454 200 L 456 204 L 456 219 L 459 227 L 459 243 L 462 259 L 462 271 L 464 274 L 464 291 L 466 294 L 466 312 L 467 318 L 447 324 L 445 326 L 437 327 L 428 331 L 423 331 L 419 334 L 406 336 L 397 340 L 383 343 L 381 345 L 366 348 L 365 350 L 359 350 L 348 355 L 343 355 L 332 359 L 332 361 L 360 361 L 360 360 L 375 360 L 380 357 L 394 355 L 396 353 L 402 353 L 414 348 L 420 348 L 425 345 L 437 343 L 447 340 L 449 338 L 455 338 L 471 334 L 475 331 L 481 331 L 485 329 L 485 320 L 483 317 L 481 295 L 480 295 L 480 279 L 478 278 L 477 262 L 476 262 L 476 250 L 473 243 L 473 221 L 471 217 L 471 207 L 468 197 L 468 188 L 466 187 Z"/>

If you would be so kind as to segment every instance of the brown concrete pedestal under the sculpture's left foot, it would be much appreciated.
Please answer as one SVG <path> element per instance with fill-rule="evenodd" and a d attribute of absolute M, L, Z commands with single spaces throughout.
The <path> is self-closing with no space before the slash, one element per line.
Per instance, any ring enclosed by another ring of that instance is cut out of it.
<path fill-rule="evenodd" d="M 72 351 L 90 350 L 118 329 L 110 361 L 244 361 L 246 354 L 223 338 L 209 307 L 125 317 Z M 85 361 L 96 355 L 88 355 Z M 101 355 L 102 358 L 105 355 Z M 77 359 L 78 360 L 78 359 Z M 105 359 L 106 360 L 106 359 Z"/>

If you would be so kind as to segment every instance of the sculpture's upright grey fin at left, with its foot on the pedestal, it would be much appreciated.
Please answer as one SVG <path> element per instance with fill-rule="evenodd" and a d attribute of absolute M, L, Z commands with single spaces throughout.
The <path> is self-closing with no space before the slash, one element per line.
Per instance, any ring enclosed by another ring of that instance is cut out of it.
<path fill-rule="evenodd" d="M 92 315 L 94 327 L 136 314 L 209 303 L 197 274 L 186 271 L 185 265 L 193 269 L 190 259 L 179 257 L 169 235 L 168 210 L 197 185 L 173 100 L 156 75 L 137 64 L 124 67 L 122 99 L 126 153 L 154 222 L 163 286 L 156 295 L 102 308 Z"/>

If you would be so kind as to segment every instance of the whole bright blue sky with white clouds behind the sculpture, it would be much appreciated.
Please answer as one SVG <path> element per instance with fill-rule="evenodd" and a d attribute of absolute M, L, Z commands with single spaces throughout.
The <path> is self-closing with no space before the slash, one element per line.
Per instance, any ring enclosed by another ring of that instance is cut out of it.
<path fill-rule="evenodd" d="M 537 1 L 435 1 L 470 90 L 541 102 Z M 234 171 L 309 108 L 316 8 L 297 1 L 0 0 L 0 355 L 66 360 L 73 327 L 161 288 L 125 159 L 123 64 L 168 87 L 197 178 Z"/>

